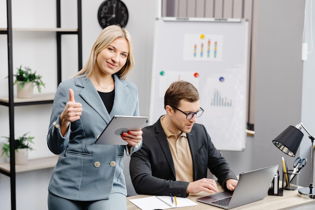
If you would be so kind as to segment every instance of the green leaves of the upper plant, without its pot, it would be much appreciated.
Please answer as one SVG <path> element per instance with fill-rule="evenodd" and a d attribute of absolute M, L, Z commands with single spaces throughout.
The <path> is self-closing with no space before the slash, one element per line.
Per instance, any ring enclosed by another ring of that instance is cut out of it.
<path fill-rule="evenodd" d="M 16 80 L 14 81 L 14 84 L 19 83 L 19 88 L 22 90 L 24 85 L 26 83 L 34 83 L 35 86 L 37 86 L 37 90 L 40 93 L 42 91 L 41 87 L 45 87 L 45 84 L 43 83 L 42 76 L 36 75 L 36 71 L 33 73 L 32 69 L 29 67 L 24 67 L 24 70 L 22 69 L 22 65 L 20 65 L 18 69 L 17 74 L 13 75 L 15 76 Z"/>

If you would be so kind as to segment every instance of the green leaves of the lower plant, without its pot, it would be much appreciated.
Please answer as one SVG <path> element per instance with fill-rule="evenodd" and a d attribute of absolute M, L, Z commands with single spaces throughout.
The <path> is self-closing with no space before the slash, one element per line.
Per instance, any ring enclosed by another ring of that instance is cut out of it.
<path fill-rule="evenodd" d="M 34 150 L 31 146 L 31 144 L 34 144 L 33 136 L 27 136 L 28 133 L 23 134 L 19 138 L 15 139 L 15 151 L 18 151 L 18 149 L 28 148 L 29 150 Z M 8 136 L 2 136 L 4 138 L 7 138 L 8 143 L 4 143 L 2 147 L 2 155 L 6 155 L 8 158 L 10 158 L 10 137 Z"/>

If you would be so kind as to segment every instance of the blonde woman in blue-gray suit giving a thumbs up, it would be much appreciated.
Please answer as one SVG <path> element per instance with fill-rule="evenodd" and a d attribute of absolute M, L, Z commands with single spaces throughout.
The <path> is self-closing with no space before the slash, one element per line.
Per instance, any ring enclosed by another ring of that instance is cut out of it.
<path fill-rule="evenodd" d="M 128 31 L 106 27 L 83 69 L 59 84 L 47 144 L 60 154 L 48 186 L 49 210 L 127 209 L 123 174 L 127 155 L 142 146 L 142 131 L 122 134 L 128 144 L 95 145 L 114 115 L 139 115 L 138 91 L 125 81 L 134 66 Z"/>

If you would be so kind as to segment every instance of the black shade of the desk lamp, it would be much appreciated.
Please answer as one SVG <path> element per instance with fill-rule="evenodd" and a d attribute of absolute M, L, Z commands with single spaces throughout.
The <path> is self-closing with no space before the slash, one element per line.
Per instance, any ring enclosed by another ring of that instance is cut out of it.
<path fill-rule="evenodd" d="M 299 129 L 290 125 L 272 143 L 285 154 L 295 157 L 303 136 L 304 134 Z"/>

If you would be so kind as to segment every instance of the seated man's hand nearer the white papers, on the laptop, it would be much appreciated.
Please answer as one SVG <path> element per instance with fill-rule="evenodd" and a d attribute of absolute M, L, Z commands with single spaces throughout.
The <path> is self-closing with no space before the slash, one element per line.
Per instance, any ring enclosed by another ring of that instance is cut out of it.
<path fill-rule="evenodd" d="M 201 191 L 207 193 L 219 192 L 216 182 L 213 179 L 202 178 L 194 182 L 190 182 L 187 187 L 187 193 L 195 194 Z"/>

